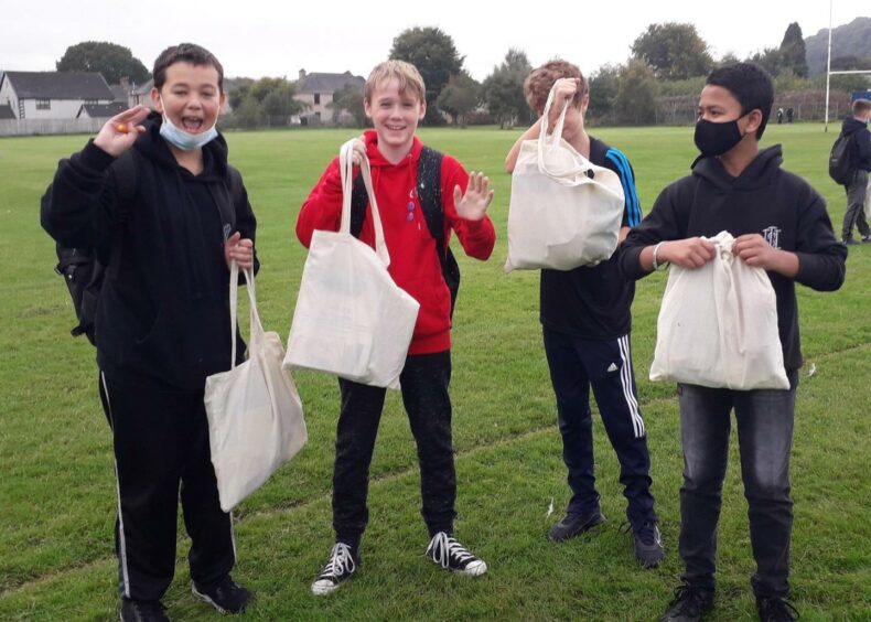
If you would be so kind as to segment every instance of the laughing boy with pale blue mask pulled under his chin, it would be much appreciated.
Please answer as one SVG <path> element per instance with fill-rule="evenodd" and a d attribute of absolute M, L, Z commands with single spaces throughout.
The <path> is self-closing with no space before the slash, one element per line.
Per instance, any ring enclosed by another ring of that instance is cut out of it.
<path fill-rule="evenodd" d="M 203 393 L 230 366 L 229 265 L 257 269 L 256 221 L 215 129 L 223 68 L 193 44 L 154 64 L 157 112 L 110 119 L 62 160 L 42 200 L 43 227 L 95 248 L 107 276 L 95 320 L 99 393 L 117 475 L 121 620 L 166 620 L 178 502 L 192 539 L 193 593 L 236 613 L 233 524 L 221 510 Z M 237 333 L 243 360 L 244 343 Z"/>

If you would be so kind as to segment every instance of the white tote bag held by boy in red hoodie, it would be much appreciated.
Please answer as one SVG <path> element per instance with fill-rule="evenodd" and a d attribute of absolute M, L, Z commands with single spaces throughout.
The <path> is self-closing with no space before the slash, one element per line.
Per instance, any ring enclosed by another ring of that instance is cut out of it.
<path fill-rule="evenodd" d="M 353 141 L 342 146 L 342 225 L 315 230 L 288 337 L 286 368 L 305 368 L 378 387 L 399 388 L 420 304 L 387 271 L 369 162 L 361 170 L 369 196 L 375 250 L 351 235 Z"/>

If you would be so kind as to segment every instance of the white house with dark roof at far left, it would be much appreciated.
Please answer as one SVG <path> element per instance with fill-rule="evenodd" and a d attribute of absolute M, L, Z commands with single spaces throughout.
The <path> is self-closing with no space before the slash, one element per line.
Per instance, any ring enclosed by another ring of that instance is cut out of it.
<path fill-rule="evenodd" d="M 4 72 L 0 78 L 0 106 L 18 119 L 74 119 L 83 105 L 114 98 L 98 73 Z"/>

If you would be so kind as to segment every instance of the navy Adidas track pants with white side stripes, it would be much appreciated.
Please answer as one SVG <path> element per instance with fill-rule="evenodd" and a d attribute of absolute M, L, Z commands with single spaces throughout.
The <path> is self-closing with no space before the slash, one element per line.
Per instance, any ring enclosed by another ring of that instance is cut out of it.
<path fill-rule="evenodd" d="M 592 387 L 605 432 L 620 460 L 620 482 L 628 502 L 626 516 L 632 528 L 637 530 L 645 522 L 656 522 L 650 457 L 638 408 L 630 335 L 588 341 L 544 329 L 544 339 L 557 397 L 562 459 L 573 493 L 568 511 L 580 514 L 599 507 L 593 474 Z"/>

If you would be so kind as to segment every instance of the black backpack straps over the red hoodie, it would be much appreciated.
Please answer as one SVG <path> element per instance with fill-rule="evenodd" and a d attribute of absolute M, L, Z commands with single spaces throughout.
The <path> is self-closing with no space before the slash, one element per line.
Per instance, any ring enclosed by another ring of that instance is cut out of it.
<path fill-rule="evenodd" d="M 451 246 L 444 244 L 444 206 L 441 196 L 441 161 L 442 154 L 430 147 L 423 147 L 418 161 L 418 197 L 427 228 L 436 240 L 439 254 L 441 274 L 451 292 L 451 318 L 456 305 L 456 294 L 460 291 L 460 266 L 451 251 Z M 363 221 L 366 218 L 366 206 L 369 199 L 363 175 L 354 179 L 354 189 L 351 192 L 351 235 L 359 237 L 363 230 Z"/>

